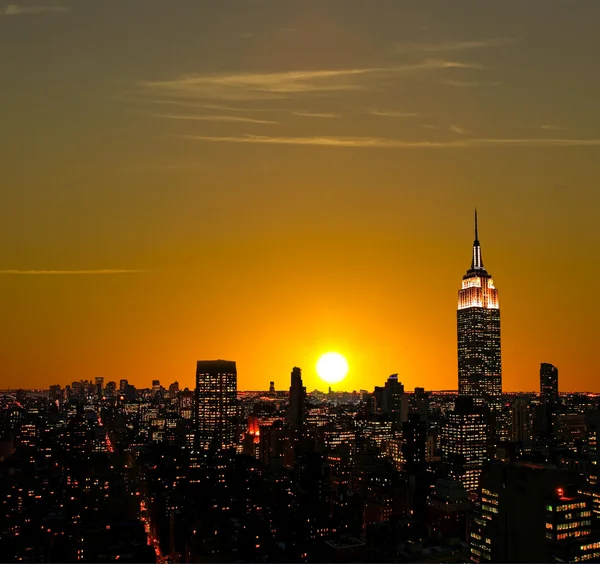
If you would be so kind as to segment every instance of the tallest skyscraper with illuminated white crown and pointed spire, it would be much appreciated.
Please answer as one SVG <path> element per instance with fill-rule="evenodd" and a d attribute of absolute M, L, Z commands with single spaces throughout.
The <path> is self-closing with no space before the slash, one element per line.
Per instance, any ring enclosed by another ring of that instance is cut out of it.
<path fill-rule="evenodd" d="M 471 268 L 458 292 L 458 393 L 472 396 L 476 404 L 499 408 L 502 401 L 500 309 L 498 290 L 483 266 L 477 232 Z"/>

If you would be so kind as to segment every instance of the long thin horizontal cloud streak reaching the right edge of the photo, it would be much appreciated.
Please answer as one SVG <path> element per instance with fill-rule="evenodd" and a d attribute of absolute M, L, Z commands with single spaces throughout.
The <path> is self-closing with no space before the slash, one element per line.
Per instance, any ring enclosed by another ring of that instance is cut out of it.
<path fill-rule="evenodd" d="M 600 147 L 600 139 L 461 139 L 458 141 L 411 141 L 381 137 L 267 137 L 242 135 L 214 137 L 184 135 L 186 139 L 218 143 L 258 143 L 270 145 L 317 145 L 327 147 L 370 147 L 381 149 L 455 149 L 467 147 Z"/>

